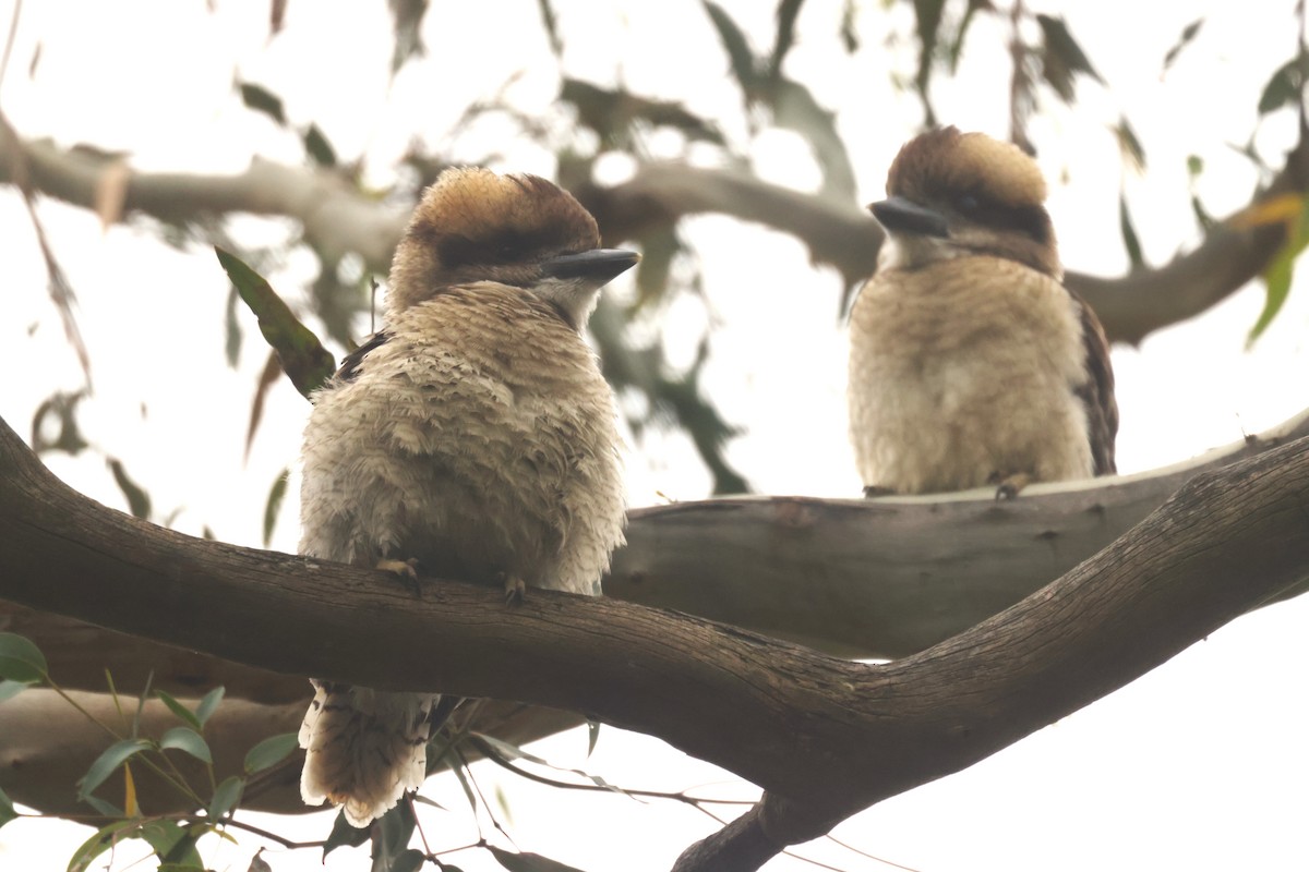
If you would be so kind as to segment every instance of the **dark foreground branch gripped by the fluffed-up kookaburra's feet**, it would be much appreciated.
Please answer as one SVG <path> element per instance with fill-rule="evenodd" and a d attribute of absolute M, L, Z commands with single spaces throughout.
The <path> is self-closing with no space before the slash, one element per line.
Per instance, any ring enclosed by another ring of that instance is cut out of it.
<path fill-rule="evenodd" d="M 607 597 L 507 608 L 432 583 L 415 599 L 377 573 L 191 539 L 72 492 L 0 428 L 4 599 L 276 672 L 593 713 L 763 786 L 754 845 L 958 771 L 1304 583 L 1306 518 L 1300 439 L 1192 478 L 969 631 L 867 665 Z"/>

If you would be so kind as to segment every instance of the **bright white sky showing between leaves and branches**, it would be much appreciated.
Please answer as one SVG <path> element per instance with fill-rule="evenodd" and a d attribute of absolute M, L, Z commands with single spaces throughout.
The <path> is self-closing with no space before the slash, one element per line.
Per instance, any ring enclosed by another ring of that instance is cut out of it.
<path fill-rule="evenodd" d="M 554 60 L 530 0 L 435 4 L 425 30 L 428 58 L 387 85 L 390 22 L 384 4 L 350 9 L 289 3 L 284 33 L 267 39 L 267 3 L 103 4 L 27 3 L 0 105 L 25 136 L 63 145 L 92 143 L 132 153 L 149 170 L 238 171 L 253 154 L 297 163 L 296 139 L 245 110 L 234 75 L 271 88 L 297 124 L 315 122 L 344 158 L 367 154 L 369 178 L 390 182 L 389 166 L 410 139 L 445 144 L 463 106 L 495 93 L 514 73 L 511 99 L 543 112 L 556 82 Z M 774 4 L 725 4 L 750 29 L 757 48 L 771 39 Z M 1127 264 L 1117 231 L 1121 169 L 1106 124 L 1126 114 L 1148 156 L 1143 178 L 1126 184 L 1152 263 L 1198 238 L 1187 205 L 1186 156 L 1206 171 L 1198 191 L 1211 213 L 1240 207 L 1254 171 L 1229 144 L 1254 129 L 1254 105 L 1295 41 L 1292 3 L 1170 4 L 1107 0 L 1034 4 L 1063 10 L 1073 34 L 1109 82 L 1083 82 L 1076 114 L 1054 110 L 1034 124 L 1041 163 L 1066 265 L 1102 275 Z M 742 141 L 738 92 L 696 3 L 556 3 L 569 75 L 600 84 L 623 81 L 635 93 L 683 101 L 724 119 Z M 0 3 L 0 27 L 12 1 Z M 888 71 L 911 69 L 911 42 L 881 50 L 881 4 L 861 5 L 864 51 L 835 51 L 840 4 L 810 0 L 787 72 L 838 112 L 864 201 L 881 195 L 885 167 L 919 123 L 919 106 L 895 94 Z M 1161 75 L 1165 51 L 1182 27 L 1206 24 L 1181 60 Z M 908 33 L 907 9 L 890 18 Z M 29 78 L 37 43 L 39 65 Z M 940 118 L 966 129 L 1005 133 L 1003 52 L 980 22 L 959 76 L 939 80 Z M 1261 129 L 1270 163 L 1293 141 L 1289 118 Z M 499 169 L 552 174 L 550 152 L 480 127 L 480 139 L 456 143 L 450 157 L 474 159 L 499 149 Z M 503 141 L 496 137 L 501 137 Z M 492 143 L 493 145 L 488 145 Z M 660 137 L 652 149 L 658 152 Z M 804 145 L 770 132 L 750 150 L 770 180 L 813 188 L 817 171 Z M 611 163 L 606 173 L 620 175 Z M 242 446 L 264 349 L 246 318 L 238 370 L 223 363 L 226 280 L 207 251 L 179 252 L 154 242 L 148 226 L 102 231 L 84 210 L 45 203 L 42 220 L 79 293 L 79 320 L 90 348 L 96 395 L 81 422 L 98 447 L 123 458 L 153 497 L 158 516 L 179 509 L 188 533 L 209 526 L 224 540 L 260 544 L 267 490 L 298 447 L 308 405 L 288 384 L 270 396 L 264 425 L 247 461 Z M 233 221 L 237 238 L 255 244 L 287 231 L 284 222 Z M 762 493 L 847 497 L 857 481 L 844 437 L 844 335 L 836 322 L 839 284 L 814 271 L 792 239 L 725 218 L 687 222 L 702 258 L 707 306 L 685 301 L 666 312 L 670 348 L 689 360 L 699 326 L 712 318 L 713 362 L 704 388 L 728 420 L 747 428 L 729 458 Z M 0 190 L 5 316 L 0 344 L 9 377 L 0 416 L 27 433 L 35 407 L 81 377 L 46 295 L 30 222 L 12 190 Z M 310 264 L 293 259 L 274 275 L 295 295 Z M 1302 282 L 1301 282 L 1302 284 Z M 622 288 L 619 288 L 622 293 Z M 1194 322 L 1114 349 L 1123 426 L 1119 467 L 1136 472 L 1240 439 L 1309 405 L 1309 293 L 1297 288 L 1287 309 L 1254 346 L 1245 335 L 1262 306 L 1253 285 Z M 367 324 L 360 326 L 360 332 Z M 679 339 L 683 337 L 683 339 Z M 21 361 L 21 363 L 20 363 Z M 708 477 L 689 442 L 648 437 L 628 463 L 634 505 L 706 494 Z M 94 458 L 48 456 L 69 484 L 110 506 L 123 499 Z M 295 488 L 295 485 L 293 485 Z M 295 550 L 295 501 L 285 506 L 274 548 Z M 1309 863 L 1309 722 L 1305 664 L 1309 605 L 1293 601 L 1241 618 L 1172 663 L 1089 709 L 958 775 L 888 800 L 842 825 L 843 841 L 923 872 L 1187 868 L 1300 869 Z M 730 724 L 724 724 L 729 729 Z M 683 765 L 662 743 L 603 729 L 584 760 L 585 737 L 556 736 L 534 752 L 564 766 L 585 766 L 627 787 L 678 790 L 725 782 L 747 786 L 702 765 Z M 503 787 L 512 833 L 525 851 L 584 869 L 669 868 L 672 859 L 713 825 L 694 811 L 611 796 L 545 788 L 476 767 L 487 795 Z M 425 791 L 452 813 L 433 812 L 433 847 L 470 842 L 466 804 L 448 778 Z M 258 818 L 257 818 L 258 820 Z M 326 834 L 330 814 L 260 822 L 296 838 Z M 56 821 L 20 821 L 0 830 L 0 868 L 63 869 L 88 830 Z M 211 846 L 216 869 L 245 869 L 255 839 Z M 843 869 L 889 868 L 833 845 L 800 852 Z M 264 858 L 279 872 L 312 869 L 314 851 Z M 480 854 L 450 858 L 467 871 L 500 868 Z M 120 863 L 115 868 L 123 868 Z M 140 868 L 140 867 L 134 867 Z M 338 851 L 329 869 L 367 868 L 361 852 Z M 814 868 L 781 859 L 770 869 Z"/>

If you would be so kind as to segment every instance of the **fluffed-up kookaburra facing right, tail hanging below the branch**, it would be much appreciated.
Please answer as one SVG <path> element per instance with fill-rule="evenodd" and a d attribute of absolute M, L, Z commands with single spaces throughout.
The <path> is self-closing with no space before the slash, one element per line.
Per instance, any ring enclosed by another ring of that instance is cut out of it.
<path fill-rule="evenodd" d="M 626 499 L 581 329 L 636 260 L 545 179 L 446 170 L 395 251 L 384 329 L 313 397 L 301 553 L 598 595 Z M 301 794 L 364 826 L 421 784 L 440 697 L 314 686 Z"/>

